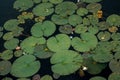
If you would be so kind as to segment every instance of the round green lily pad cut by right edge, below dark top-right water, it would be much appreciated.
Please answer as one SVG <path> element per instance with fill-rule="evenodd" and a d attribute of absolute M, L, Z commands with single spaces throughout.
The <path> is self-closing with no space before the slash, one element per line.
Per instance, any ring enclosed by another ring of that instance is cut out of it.
<path fill-rule="evenodd" d="M 107 17 L 106 22 L 109 23 L 110 26 L 119 26 L 120 25 L 120 16 L 117 14 L 112 14 Z"/>

